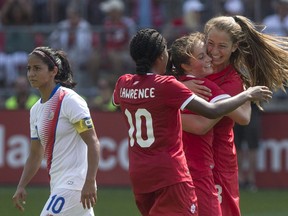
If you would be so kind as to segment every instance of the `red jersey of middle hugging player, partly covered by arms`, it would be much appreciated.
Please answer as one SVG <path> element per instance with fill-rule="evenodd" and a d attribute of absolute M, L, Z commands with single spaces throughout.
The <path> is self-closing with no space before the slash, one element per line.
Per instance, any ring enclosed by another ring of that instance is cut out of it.
<path fill-rule="evenodd" d="M 180 81 L 187 81 L 191 79 L 198 78 L 189 75 L 179 77 Z M 220 87 L 218 87 L 210 80 L 205 78 L 198 80 L 204 80 L 204 85 L 211 89 L 212 96 L 209 98 L 210 102 L 213 103 L 218 100 L 230 97 L 228 94 L 225 94 L 225 92 Z M 182 111 L 182 113 L 193 114 L 187 109 Z M 202 136 L 183 131 L 184 151 L 193 179 L 212 175 L 212 168 L 214 167 L 212 142 L 213 129 Z"/>

